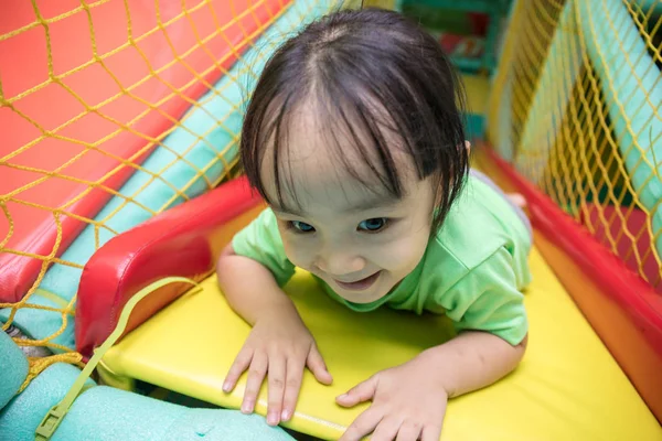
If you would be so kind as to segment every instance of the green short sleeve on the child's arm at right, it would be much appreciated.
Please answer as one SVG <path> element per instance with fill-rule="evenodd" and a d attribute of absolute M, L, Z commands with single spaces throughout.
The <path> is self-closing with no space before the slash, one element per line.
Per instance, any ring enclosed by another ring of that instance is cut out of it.
<path fill-rule="evenodd" d="M 513 257 L 500 247 L 446 292 L 434 298 L 457 332 L 484 331 L 515 346 L 528 332 L 524 295 L 517 290 Z"/>

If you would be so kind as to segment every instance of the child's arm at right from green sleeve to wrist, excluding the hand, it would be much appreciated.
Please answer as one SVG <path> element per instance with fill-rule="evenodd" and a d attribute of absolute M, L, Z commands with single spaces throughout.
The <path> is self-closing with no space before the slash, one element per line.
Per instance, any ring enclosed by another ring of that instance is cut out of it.
<path fill-rule="evenodd" d="M 453 340 L 423 352 L 449 397 L 467 394 L 512 372 L 526 349 L 528 322 L 513 257 L 500 248 L 433 301 L 458 330 Z"/>

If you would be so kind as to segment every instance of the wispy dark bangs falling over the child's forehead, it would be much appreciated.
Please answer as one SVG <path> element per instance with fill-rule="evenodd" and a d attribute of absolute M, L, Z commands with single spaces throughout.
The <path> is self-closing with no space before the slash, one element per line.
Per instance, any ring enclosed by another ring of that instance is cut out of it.
<path fill-rule="evenodd" d="M 396 158 L 398 149 L 406 151 L 407 137 L 401 135 L 392 118 L 378 105 L 369 105 L 374 99 L 353 99 L 352 94 L 314 95 L 321 96 L 276 99 L 277 104 L 265 112 L 265 125 L 258 129 L 260 136 L 253 146 L 263 171 L 254 186 L 265 201 L 286 211 L 301 209 L 300 185 L 295 184 L 293 164 L 298 158 L 291 154 L 295 137 L 299 143 L 301 137 L 310 138 L 306 154 L 330 158 L 328 166 L 338 171 L 339 183 L 349 175 L 367 192 L 402 198 L 405 187 L 401 169 L 409 166 L 408 161 L 403 161 L 408 154 L 398 158 L 399 161 Z M 301 117 L 308 116 L 311 122 L 302 129 Z M 317 149 L 323 152 L 318 153 Z M 265 161 L 270 168 L 267 173 L 263 168 Z M 418 178 L 423 178 L 420 173 Z M 274 189 L 275 194 L 269 194 L 267 187 Z"/>

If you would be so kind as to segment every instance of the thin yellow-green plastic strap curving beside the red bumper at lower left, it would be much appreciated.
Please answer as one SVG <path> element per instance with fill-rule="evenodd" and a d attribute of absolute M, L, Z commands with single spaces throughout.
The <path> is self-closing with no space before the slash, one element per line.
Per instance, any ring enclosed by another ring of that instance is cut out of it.
<path fill-rule="evenodd" d="M 136 304 L 140 300 L 145 299 L 147 295 L 158 290 L 159 288 L 177 282 L 185 282 L 197 286 L 197 282 L 185 277 L 167 277 L 142 288 L 140 291 L 138 291 L 138 293 L 136 293 L 134 297 L 131 297 L 131 299 L 129 299 L 127 304 L 122 308 L 121 313 L 119 314 L 119 320 L 117 321 L 115 330 L 113 330 L 113 332 L 110 333 L 108 338 L 106 338 L 104 344 L 94 349 L 94 355 L 92 356 L 85 368 L 81 372 L 78 378 L 76 378 L 68 392 L 64 396 L 62 401 L 60 401 L 57 405 L 53 406 L 51 410 L 49 410 L 49 413 L 46 413 L 42 422 L 36 428 L 34 437 L 35 441 L 47 441 L 51 439 L 53 433 L 55 433 L 55 430 L 57 430 L 57 427 L 60 426 L 60 423 L 68 412 L 70 408 L 74 404 L 74 400 L 83 390 L 87 378 L 89 378 L 89 376 L 92 375 L 98 363 L 102 361 L 106 352 L 115 344 L 115 342 L 124 333 L 125 329 L 127 327 L 129 316 L 131 315 L 131 311 L 134 310 Z"/>

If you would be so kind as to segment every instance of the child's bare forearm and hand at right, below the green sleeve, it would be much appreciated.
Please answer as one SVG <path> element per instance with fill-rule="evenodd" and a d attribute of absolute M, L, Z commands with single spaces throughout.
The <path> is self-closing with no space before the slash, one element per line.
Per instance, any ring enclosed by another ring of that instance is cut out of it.
<path fill-rule="evenodd" d="M 520 363 L 526 337 L 516 346 L 485 332 L 469 331 L 383 370 L 337 398 L 343 407 L 372 400 L 341 441 L 437 441 L 449 398 L 489 386 Z"/>

